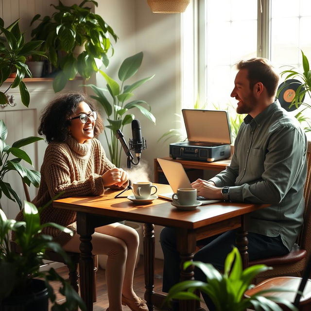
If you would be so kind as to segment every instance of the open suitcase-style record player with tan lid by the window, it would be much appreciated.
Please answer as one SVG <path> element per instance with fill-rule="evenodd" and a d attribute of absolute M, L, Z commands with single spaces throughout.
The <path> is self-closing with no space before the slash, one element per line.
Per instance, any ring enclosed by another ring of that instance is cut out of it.
<path fill-rule="evenodd" d="M 182 109 L 188 140 L 170 144 L 170 156 L 213 162 L 230 157 L 228 113 L 221 110 Z"/>

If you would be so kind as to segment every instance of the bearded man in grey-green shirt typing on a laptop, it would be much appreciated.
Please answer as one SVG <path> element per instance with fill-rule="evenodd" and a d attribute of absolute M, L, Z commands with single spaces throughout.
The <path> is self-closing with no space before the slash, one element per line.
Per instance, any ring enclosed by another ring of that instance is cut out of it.
<path fill-rule="evenodd" d="M 209 199 L 270 204 L 246 220 L 249 259 L 280 256 L 290 252 L 303 223 L 307 138 L 296 119 L 275 102 L 278 75 L 266 59 L 240 61 L 237 69 L 231 97 L 238 101 L 237 113 L 247 116 L 235 140 L 231 164 L 208 181 L 196 180 L 192 187 Z M 200 241 L 205 246 L 194 260 L 222 269 L 235 244 L 235 232 Z M 167 292 L 180 273 L 174 229 L 163 228 L 160 242 L 163 291 Z M 206 281 L 206 276 L 195 269 L 195 279 Z M 208 297 L 203 297 L 213 310 Z"/>

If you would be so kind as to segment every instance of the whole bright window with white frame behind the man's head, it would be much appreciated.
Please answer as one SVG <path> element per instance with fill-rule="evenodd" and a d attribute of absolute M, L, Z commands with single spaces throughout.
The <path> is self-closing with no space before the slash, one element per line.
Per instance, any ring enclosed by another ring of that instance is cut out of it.
<path fill-rule="evenodd" d="M 311 56 L 310 0 L 193 0 L 193 3 L 194 9 L 190 10 L 198 28 L 196 31 L 194 27 L 194 34 L 198 34 L 198 57 L 197 62 L 183 64 L 184 68 L 197 64 L 194 76 L 198 81 L 193 84 L 191 96 L 199 94 L 207 109 L 226 109 L 230 103 L 236 104 L 230 93 L 237 61 L 267 57 L 281 72 L 284 65 L 301 67 L 300 49 L 307 57 Z M 186 28 L 189 29 L 189 20 L 184 24 Z M 188 105 L 189 102 L 188 99 Z"/>

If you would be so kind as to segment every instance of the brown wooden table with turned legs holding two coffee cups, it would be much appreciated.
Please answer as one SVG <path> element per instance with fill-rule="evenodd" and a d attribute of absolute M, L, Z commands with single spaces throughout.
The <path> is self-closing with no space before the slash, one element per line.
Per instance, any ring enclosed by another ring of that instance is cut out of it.
<path fill-rule="evenodd" d="M 170 191 L 168 185 L 157 184 L 158 192 Z M 131 191 L 127 191 L 131 194 Z M 117 192 L 118 193 L 118 192 Z M 80 235 L 80 293 L 86 302 L 87 311 L 93 310 L 93 259 L 92 234 L 96 227 L 129 220 L 144 223 L 144 264 L 145 264 L 145 299 L 149 311 L 154 304 L 160 303 L 161 295 L 154 292 L 154 225 L 171 226 L 177 231 L 177 248 L 181 261 L 192 260 L 196 241 L 241 227 L 237 234 L 237 246 L 241 252 L 244 267 L 248 264 L 247 232 L 243 227 L 243 216 L 267 205 L 244 203 L 215 203 L 204 205 L 195 210 L 178 210 L 170 201 L 156 199 L 149 205 L 135 205 L 126 198 L 115 199 L 116 191 L 107 190 L 101 196 L 83 196 L 59 199 L 53 207 L 77 212 L 77 232 Z M 193 277 L 193 267 L 181 271 L 181 280 Z M 163 297 L 163 295 L 162 295 Z M 182 301 L 180 310 L 195 309 L 194 301 Z"/>

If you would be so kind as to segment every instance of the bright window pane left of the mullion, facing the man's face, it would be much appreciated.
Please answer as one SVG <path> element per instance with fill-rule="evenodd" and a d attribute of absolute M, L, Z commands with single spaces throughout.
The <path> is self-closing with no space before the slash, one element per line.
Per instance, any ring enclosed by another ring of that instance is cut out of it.
<path fill-rule="evenodd" d="M 226 109 L 241 59 L 257 54 L 257 0 L 207 0 L 207 108 Z"/>

